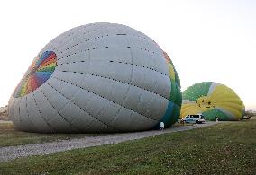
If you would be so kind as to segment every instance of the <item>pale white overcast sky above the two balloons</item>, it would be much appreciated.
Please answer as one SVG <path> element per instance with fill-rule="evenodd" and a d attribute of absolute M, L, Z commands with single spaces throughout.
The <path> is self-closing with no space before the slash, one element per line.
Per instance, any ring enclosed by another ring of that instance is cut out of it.
<path fill-rule="evenodd" d="M 224 83 L 256 110 L 254 0 L 8 0 L 0 2 L 0 106 L 32 59 L 64 31 L 113 22 L 142 31 L 171 57 L 184 91 Z"/>

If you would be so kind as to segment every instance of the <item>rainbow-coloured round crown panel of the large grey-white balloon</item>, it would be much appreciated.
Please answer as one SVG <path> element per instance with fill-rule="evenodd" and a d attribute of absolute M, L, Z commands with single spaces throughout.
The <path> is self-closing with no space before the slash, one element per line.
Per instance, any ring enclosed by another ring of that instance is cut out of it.
<path fill-rule="evenodd" d="M 23 97 L 40 87 L 50 78 L 56 65 L 57 56 L 53 51 L 45 51 L 36 57 L 27 74 L 25 74 L 22 83 L 20 83 L 21 86 L 14 93 L 16 97 Z"/>

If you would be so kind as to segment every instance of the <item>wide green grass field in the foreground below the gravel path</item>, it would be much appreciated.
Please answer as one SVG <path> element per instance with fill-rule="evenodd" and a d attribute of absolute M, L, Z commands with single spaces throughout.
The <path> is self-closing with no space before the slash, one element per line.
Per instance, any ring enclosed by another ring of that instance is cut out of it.
<path fill-rule="evenodd" d="M 0 174 L 256 174 L 256 118 L 0 163 Z"/>

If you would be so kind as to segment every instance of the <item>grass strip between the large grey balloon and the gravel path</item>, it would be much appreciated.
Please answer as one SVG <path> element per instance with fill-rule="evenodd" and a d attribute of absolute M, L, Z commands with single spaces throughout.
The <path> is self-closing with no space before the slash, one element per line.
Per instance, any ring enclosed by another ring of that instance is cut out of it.
<path fill-rule="evenodd" d="M 83 136 L 94 136 L 92 134 L 39 134 L 17 131 L 12 122 L 0 122 L 0 147 L 38 144 L 52 142 L 59 139 L 79 138 Z"/>

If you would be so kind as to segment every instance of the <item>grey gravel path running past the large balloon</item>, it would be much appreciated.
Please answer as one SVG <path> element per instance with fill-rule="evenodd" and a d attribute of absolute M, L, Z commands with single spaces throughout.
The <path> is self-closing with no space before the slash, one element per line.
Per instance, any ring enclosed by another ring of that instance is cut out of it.
<path fill-rule="evenodd" d="M 198 127 L 208 127 L 215 124 L 216 122 L 206 122 L 205 124 L 198 124 L 193 126 L 185 125 L 180 127 L 170 127 L 164 129 L 164 131 L 151 130 L 133 133 L 109 134 L 104 136 L 86 136 L 84 138 L 60 140 L 51 143 L 25 144 L 18 146 L 2 147 L 0 148 L 0 162 L 8 162 L 19 157 L 26 157 L 30 155 L 57 153 L 77 148 L 86 148 L 103 144 L 117 144 L 123 141 L 136 140 L 144 137 L 157 136 L 165 133 L 173 133 Z"/>

